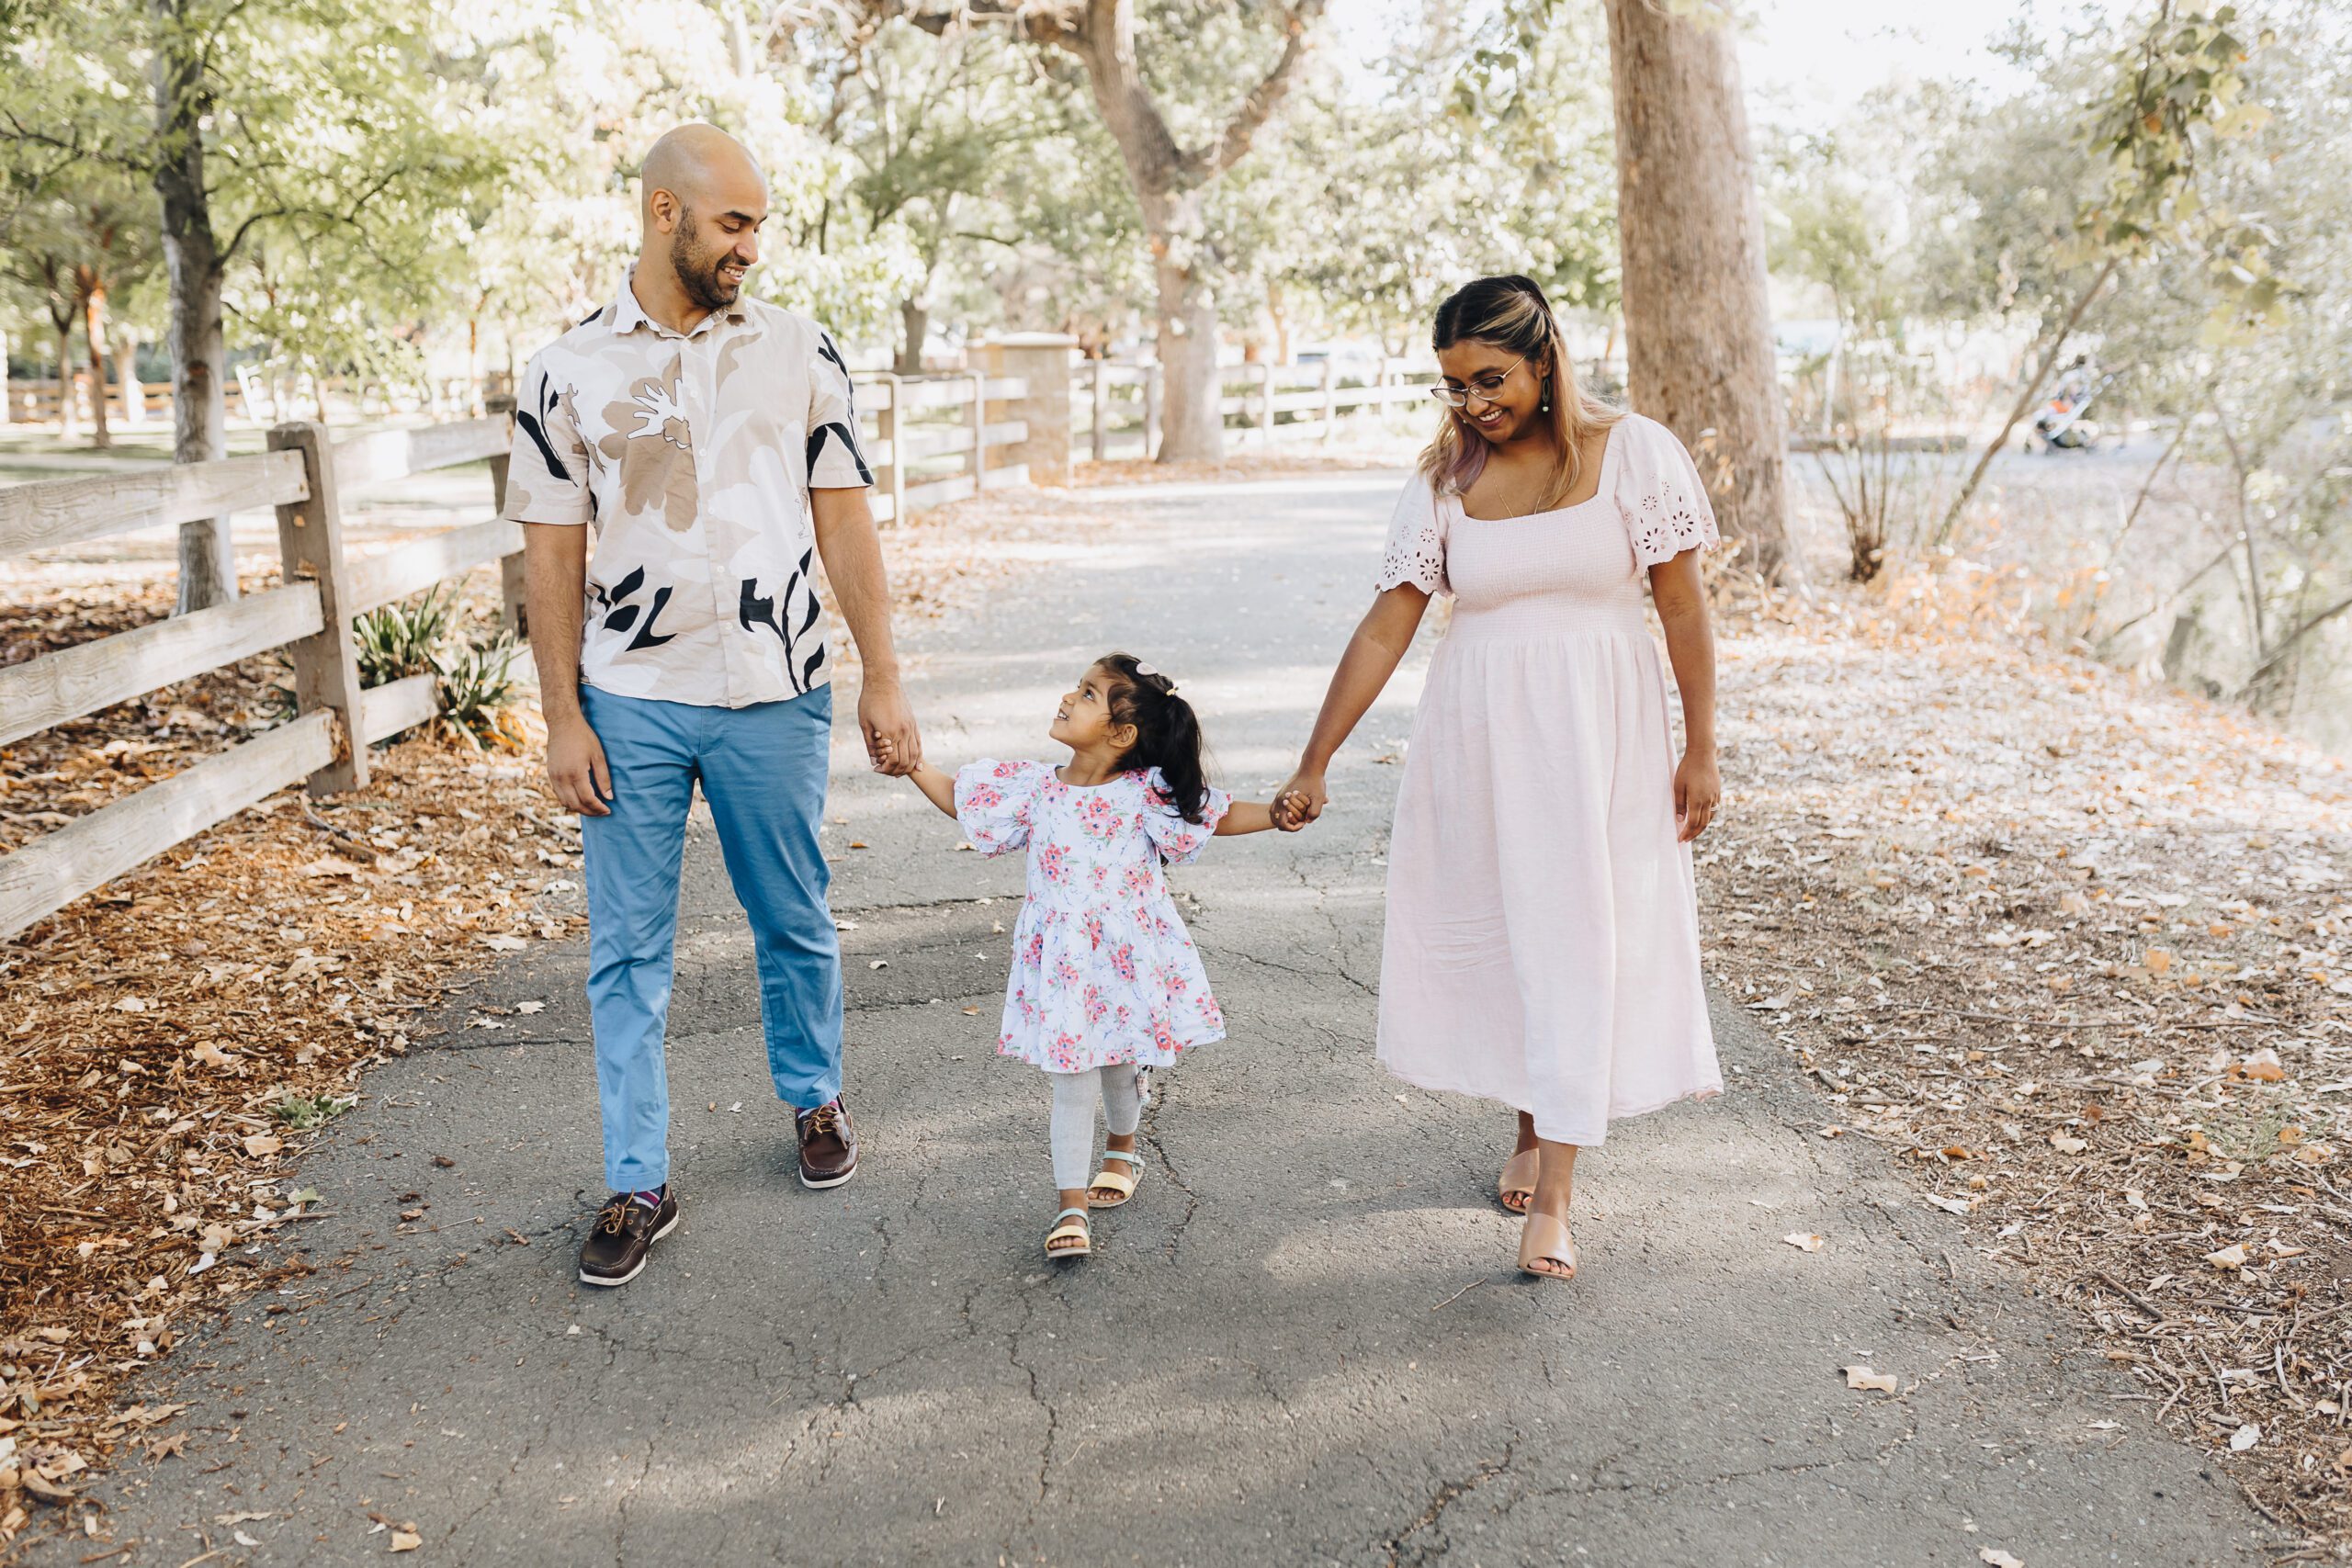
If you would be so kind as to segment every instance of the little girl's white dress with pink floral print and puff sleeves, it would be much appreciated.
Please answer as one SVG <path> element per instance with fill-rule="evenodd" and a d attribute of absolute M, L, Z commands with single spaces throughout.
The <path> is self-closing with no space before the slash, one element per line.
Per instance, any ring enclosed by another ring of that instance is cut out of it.
<path fill-rule="evenodd" d="M 1044 762 L 974 762 L 955 776 L 971 846 L 1030 851 L 997 1053 L 1047 1072 L 1167 1067 L 1185 1046 L 1225 1039 L 1160 867 L 1200 856 L 1228 806 L 1209 790 L 1202 820 L 1183 820 L 1160 769 L 1089 788 Z"/>

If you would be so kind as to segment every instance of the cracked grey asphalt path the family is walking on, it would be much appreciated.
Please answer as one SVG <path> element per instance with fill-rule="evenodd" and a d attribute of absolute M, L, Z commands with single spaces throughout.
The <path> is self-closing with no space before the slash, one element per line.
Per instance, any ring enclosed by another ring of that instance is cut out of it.
<path fill-rule="evenodd" d="M 1392 487 L 1105 491 L 1096 548 L 913 632 L 929 752 L 1047 755 L 1054 696 L 1127 646 L 1263 792 Z M 1383 759 L 1416 670 L 1319 827 L 1178 872 L 1232 1039 L 1160 1074 L 1150 1171 L 1091 1260 L 1042 1258 L 1047 1091 L 993 1056 L 1021 867 L 955 853 L 842 745 L 858 1178 L 793 1180 L 699 825 L 670 1018 L 684 1225 L 654 1267 L 574 1284 L 602 1197 L 583 950 L 517 954 L 308 1161 L 336 1211 L 301 1234 L 322 1272 L 183 1342 L 195 1432 L 99 1488 L 139 1540 L 111 1561 L 374 1561 L 379 1519 L 414 1521 L 405 1561 L 501 1566 L 2263 1561 L 2237 1490 L 2058 1312 L 1877 1150 L 1811 1135 L 1820 1107 L 1736 1009 L 1731 1091 L 1581 1166 L 1583 1274 L 1517 1276 L 1491 1201 L 1510 1117 L 1371 1060 Z M 459 1027 L 520 1001 L 546 1009 Z M 1849 1389 L 1853 1363 L 1900 1392 Z"/>

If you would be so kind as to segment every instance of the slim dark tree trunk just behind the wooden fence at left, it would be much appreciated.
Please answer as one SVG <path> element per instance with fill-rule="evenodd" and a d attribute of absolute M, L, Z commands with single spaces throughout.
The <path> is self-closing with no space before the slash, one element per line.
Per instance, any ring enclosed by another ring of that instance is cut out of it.
<path fill-rule="evenodd" d="M 205 101 L 198 56 L 186 52 L 172 0 L 158 0 L 165 47 L 155 52 L 155 195 L 162 197 L 162 259 L 172 282 L 172 461 L 228 456 L 228 400 L 221 376 L 221 244 L 205 190 Z M 228 517 L 179 527 L 179 614 L 238 597 Z"/>

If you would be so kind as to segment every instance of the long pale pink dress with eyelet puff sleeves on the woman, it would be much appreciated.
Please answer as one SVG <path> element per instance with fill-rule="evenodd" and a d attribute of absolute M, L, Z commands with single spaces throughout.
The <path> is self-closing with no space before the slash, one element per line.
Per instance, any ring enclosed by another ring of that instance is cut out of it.
<path fill-rule="evenodd" d="M 1628 414 L 1599 491 L 1512 520 L 1414 477 L 1381 588 L 1454 595 L 1397 790 L 1381 1063 L 1597 1145 L 1724 1086 L 1675 842 L 1665 668 L 1644 571 L 1717 543 L 1675 435 Z"/>

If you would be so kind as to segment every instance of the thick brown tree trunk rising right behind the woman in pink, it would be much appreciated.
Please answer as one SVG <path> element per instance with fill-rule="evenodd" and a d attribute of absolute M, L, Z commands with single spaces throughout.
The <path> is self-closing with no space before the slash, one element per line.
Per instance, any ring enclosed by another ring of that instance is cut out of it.
<path fill-rule="evenodd" d="M 1788 430 L 1731 28 L 1609 0 L 1609 78 L 1632 407 L 1682 437 L 1724 534 L 1778 578 Z"/>

